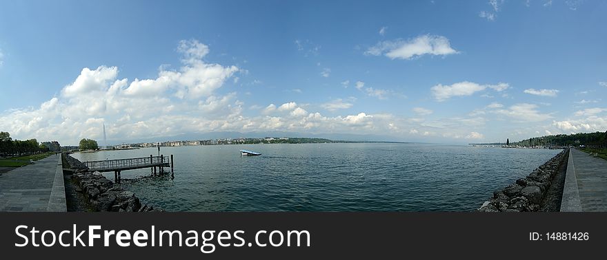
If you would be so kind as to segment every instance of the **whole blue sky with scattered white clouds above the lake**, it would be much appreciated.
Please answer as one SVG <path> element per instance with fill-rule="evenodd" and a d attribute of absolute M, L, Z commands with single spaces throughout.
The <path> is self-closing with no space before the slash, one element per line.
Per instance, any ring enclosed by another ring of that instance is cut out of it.
<path fill-rule="evenodd" d="M 607 130 L 607 1 L 0 1 L 13 138 Z"/>

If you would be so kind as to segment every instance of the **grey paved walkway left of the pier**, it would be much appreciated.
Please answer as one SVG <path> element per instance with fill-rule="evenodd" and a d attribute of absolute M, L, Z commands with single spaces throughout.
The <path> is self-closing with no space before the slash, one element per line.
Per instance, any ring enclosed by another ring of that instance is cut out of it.
<path fill-rule="evenodd" d="M 0 211 L 66 211 L 61 154 L 0 175 Z"/>

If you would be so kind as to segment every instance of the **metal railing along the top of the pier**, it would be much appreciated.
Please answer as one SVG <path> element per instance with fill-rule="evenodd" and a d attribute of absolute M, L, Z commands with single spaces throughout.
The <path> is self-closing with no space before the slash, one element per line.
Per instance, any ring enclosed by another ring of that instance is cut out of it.
<path fill-rule="evenodd" d="M 117 160 L 101 160 L 84 162 L 90 171 L 108 170 L 108 169 L 137 169 L 150 166 L 170 165 L 170 160 L 165 156 L 150 156 L 141 158 L 128 158 Z"/>

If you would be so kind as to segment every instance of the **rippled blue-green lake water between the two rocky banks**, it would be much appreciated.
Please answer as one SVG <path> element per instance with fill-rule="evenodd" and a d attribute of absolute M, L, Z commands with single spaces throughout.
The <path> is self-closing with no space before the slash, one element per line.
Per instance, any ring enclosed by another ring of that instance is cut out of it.
<path fill-rule="evenodd" d="M 262 153 L 241 157 L 239 149 Z M 123 188 L 168 211 L 466 211 L 561 150 L 440 144 L 162 147 L 175 179 L 123 171 Z M 156 148 L 74 153 L 81 161 Z M 106 173 L 113 180 L 113 173 Z"/>

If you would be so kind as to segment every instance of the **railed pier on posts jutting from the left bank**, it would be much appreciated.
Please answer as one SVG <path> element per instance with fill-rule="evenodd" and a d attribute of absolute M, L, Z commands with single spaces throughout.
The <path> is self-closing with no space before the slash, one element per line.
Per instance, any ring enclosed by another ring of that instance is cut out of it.
<path fill-rule="evenodd" d="M 150 168 L 153 175 L 157 173 L 164 173 L 164 167 L 170 167 L 171 176 L 174 175 L 173 171 L 173 155 L 170 155 L 170 159 L 164 155 L 140 158 L 127 158 L 117 160 L 101 160 L 101 161 L 89 161 L 83 162 L 90 171 L 103 172 L 114 172 L 115 182 L 120 182 L 121 171 Z M 158 170 L 158 171 L 157 171 Z"/>

